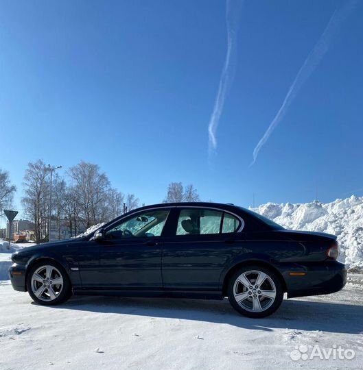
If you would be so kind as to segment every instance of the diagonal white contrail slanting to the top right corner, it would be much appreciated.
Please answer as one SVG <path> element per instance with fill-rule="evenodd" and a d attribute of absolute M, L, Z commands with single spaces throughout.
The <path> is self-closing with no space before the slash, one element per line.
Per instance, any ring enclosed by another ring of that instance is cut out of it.
<path fill-rule="evenodd" d="M 273 130 L 277 127 L 281 119 L 283 119 L 283 116 L 285 115 L 290 104 L 294 100 L 294 97 L 296 97 L 296 93 L 298 93 L 298 90 L 301 88 L 301 86 L 303 86 L 305 81 L 314 72 L 314 70 L 320 63 L 320 60 L 322 60 L 323 56 L 325 55 L 329 48 L 331 39 L 338 30 L 340 24 L 344 21 L 345 18 L 347 18 L 349 12 L 353 10 L 356 3 L 357 3 L 356 0 L 349 1 L 342 8 L 333 12 L 333 15 L 331 16 L 330 21 L 327 24 L 327 27 L 325 27 L 323 34 L 320 36 L 318 42 L 316 42 L 314 49 L 312 49 L 312 51 L 307 56 L 303 66 L 301 66 L 301 69 L 298 71 L 298 74 L 296 75 L 294 82 L 292 82 L 292 85 L 288 90 L 288 95 L 286 95 L 282 103 L 282 106 L 280 107 L 276 116 L 270 123 L 270 126 L 268 126 L 268 129 L 266 130 L 264 136 L 262 136 L 261 140 L 259 140 L 255 149 L 253 150 L 253 162 L 250 164 L 250 166 L 252 166 L 256 162 L 261 147 L 266 143 L 266 141 L 272 134 Z"/>

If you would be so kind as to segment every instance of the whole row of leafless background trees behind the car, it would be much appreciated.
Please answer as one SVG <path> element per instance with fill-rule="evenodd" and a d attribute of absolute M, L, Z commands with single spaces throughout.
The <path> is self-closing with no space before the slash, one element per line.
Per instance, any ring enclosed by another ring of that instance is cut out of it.
<path fill-rule="evenodd" d="M 15 192 L 16 187 L 10 183 L 8 172 L 0 169 L 1 212 L 6 206 L 11 206 Z M 66 221 L 69 234 L 76 236 L 80 230 L 109 221 L 138 208 L 140 204 L 133 193 L 124 195 L 113 188 L 106 173 L 102 173 L 97 164 L 84 161 L 70 167 L 65 176 L 60 176 L 43 160 L 30 162 L 23 178 L 23 193 L 23 214 L 34 223 L 36 243 L 43 241 L 47 235 L 49 206 L 52 223 L 56 223 L 59 234 Z M 181 201 L 200 201 L 196 188 L 192 184 L 184 187 L 181 182 L 170 183 L 163 202 Z"/>

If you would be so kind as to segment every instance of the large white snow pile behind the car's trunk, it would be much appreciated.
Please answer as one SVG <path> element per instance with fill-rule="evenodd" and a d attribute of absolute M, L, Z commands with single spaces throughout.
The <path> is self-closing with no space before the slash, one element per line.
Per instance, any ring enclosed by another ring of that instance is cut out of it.
<path fill-rule="evenodd" d="M 267 203 L 251 208 L 292 230 L 327 232 L 338 236 L 339 260 L 363 267 L 363 197 L 352 195 L 331 203 Z"/>

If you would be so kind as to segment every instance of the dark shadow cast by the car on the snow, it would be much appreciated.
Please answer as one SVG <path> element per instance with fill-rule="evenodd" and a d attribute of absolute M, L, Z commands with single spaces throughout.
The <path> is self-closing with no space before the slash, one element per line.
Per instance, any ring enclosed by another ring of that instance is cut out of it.
<path fill-rule="evenodd" d="M 228 299 L 205 301 L 78 296 L 60 306 L 47 308 L 224 323 L 237 328 L 267 332 L 282 328 L 360 334 L 363 328 L 362 306 L 300 299 L 284 299 L 279 310 L 264 319 L 250 319 L 239 315 L 229 305 Z"/>

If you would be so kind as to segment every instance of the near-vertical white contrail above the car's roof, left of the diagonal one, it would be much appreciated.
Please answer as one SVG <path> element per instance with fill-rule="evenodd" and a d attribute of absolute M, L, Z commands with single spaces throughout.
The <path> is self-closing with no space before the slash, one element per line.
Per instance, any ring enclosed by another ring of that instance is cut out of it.
<path fill-rule="evenodd" d="M 218 87 L 217 97 L 215 98 L 213 112 L 208 125 L 209 134 L 209 154 L 217 148 L 217 127 L 220 121 L 220 115 L 224 106 L 226 91 L 231 85 L 235 72 L 235 47 L 237 44 L 237 29 L 239 23 L 239 15 L 242 9 L 243 0 L 234 1 L 226 0 L 226 25 L 227 25 L 227 53 L 226 60 L 220 76 L 220 86 Z"/>

